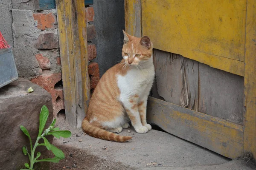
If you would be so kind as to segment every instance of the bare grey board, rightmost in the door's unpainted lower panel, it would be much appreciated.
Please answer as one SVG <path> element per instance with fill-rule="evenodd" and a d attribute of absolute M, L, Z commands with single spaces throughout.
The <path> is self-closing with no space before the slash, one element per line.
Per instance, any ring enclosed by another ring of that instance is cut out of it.
<path fill-rule="evenodd" d="M 199 112 L 243 122 L 244 79 L 199 63 Z"/>

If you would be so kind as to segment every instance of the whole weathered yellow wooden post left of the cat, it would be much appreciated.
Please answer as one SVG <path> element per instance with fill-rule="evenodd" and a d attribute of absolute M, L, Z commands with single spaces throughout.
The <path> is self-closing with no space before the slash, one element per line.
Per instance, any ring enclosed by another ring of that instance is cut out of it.
<path fill-rule="evenodd" d="M 84 0 L 56 0 L 66 120 L 80 128 L 90 99 Z"/>

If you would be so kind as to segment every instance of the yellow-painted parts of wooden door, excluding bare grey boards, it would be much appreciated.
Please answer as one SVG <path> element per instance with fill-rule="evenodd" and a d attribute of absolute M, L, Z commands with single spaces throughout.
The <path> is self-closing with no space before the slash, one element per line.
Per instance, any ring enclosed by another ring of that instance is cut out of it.
<path fill-rule="evenodd" d="M 125 29 L 137 37 L 149 36 L 157 50 L 244 77 L 241 123 L 154 97 L 149 97 L 147 117 L 167 132 L 221 155 L 255 158 L 255 0 L 125 0 Z"/>

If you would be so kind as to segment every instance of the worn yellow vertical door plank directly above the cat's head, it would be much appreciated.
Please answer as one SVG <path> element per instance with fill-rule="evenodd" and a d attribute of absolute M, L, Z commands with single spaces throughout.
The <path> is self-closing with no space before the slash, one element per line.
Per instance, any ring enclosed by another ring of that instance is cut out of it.
<path fill-rule="evenodd" d="M 125 0 L 125 31 L 135 37 L 142 37 L 141 0 Z"/>

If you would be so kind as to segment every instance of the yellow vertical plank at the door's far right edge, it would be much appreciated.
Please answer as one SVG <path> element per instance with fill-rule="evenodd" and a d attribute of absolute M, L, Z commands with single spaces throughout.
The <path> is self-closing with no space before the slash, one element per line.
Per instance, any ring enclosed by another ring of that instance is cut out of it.
<path fill-rule="evenodd" d="M 247 0 L 244 73 L 244 156 L 256 161 L 256 1 Z M 250 154 L 248 154 L 250 153 Z"/>

